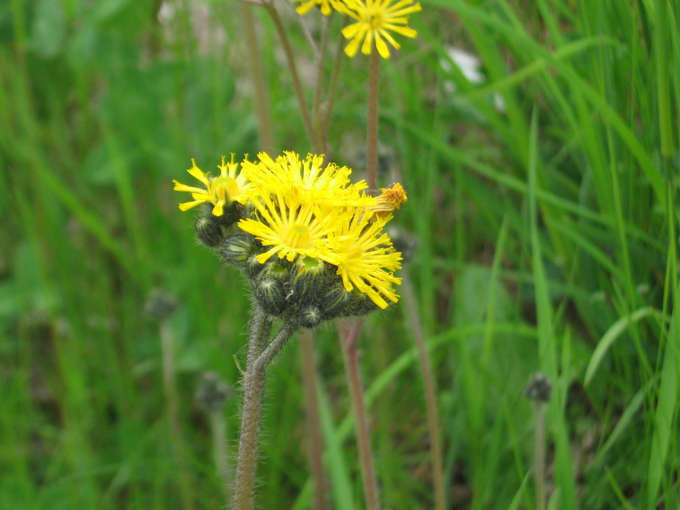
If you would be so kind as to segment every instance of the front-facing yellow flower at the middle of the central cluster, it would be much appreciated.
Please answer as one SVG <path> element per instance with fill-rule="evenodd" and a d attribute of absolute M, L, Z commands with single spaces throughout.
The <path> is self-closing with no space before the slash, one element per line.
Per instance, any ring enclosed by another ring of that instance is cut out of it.
<path fill-rule="evenodd" d="M 259 197 L 252 198 L 258 219 L 240 220 L 238 225 L 242 231 L 254 235 L 263 246 L 272 247 L 257 256 L 260 264 L 273 254 L 291 261 L 298 255 L 324 260 L 332 258 L 327 236 L 336 226 L 333 222 L 322 224 L 318 220 L 318 207 L 284 197 L 281 189 L 271 197 L 267 190 L 260 188 Z"/>

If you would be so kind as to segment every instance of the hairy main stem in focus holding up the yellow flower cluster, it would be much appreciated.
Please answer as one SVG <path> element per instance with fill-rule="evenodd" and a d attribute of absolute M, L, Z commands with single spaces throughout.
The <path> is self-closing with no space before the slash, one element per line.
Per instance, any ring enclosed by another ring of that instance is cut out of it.
<path fill-rule="evenodd" d="M 248 361 L 243 375 L 241 437 L 234 490 L 235 510 L 252 510 L 255 504 L 254 488 L 262 418 L 262 396 L 265 388 L 265 373 L 257 371 L 255 365 L 258 356 L 265 350 L 270 329 L 271 320 L 258 305 L 255 305 L 248 339 Z"/>

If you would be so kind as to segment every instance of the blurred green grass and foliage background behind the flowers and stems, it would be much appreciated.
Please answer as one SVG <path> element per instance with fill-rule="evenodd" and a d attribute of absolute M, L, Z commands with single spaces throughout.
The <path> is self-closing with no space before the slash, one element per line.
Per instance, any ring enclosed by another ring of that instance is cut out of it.
<path fill-rule="evenodd" d="M 418 38 L 381 66 L 379 180 L 404 184 L 394 222 L 419 240 L 404 271 L 432 345 L 447 505 L 536 508 L 524 386 L 540 370 L 551 508 L 678 508 L 680 5 L 422 3 Z M 309 45 L 277 7 L 311 102 Z M 305 154 L 256 15 L 275 152 Z M 304 18 L 312 37 L 320 18 Z M 246 55 L 235 1 L 0 1 L 1 509 L 186 508 L 143 313 L 153 288 L 178 303 L 163 324 L 192 506 L 225 506 L 194 392 L 208 370 L 237 386 L 248 292 L 195 241 L 171 180 L 188 182 L 192 157 L 207 171 L 262 150 Z M 367 58 L 345 58 L 340 80 L 329 152 L 360 178 Z M 315 338 L 328 502 L 360 509 L 335 331 Z M 311 508 L 298 345 L 269 371 L 263 509 Z M 434 500 L 413 345 L 403 302 L 360 339 L 386 509 Z M 224 408 L 231 454 L 239 398 Z"/>

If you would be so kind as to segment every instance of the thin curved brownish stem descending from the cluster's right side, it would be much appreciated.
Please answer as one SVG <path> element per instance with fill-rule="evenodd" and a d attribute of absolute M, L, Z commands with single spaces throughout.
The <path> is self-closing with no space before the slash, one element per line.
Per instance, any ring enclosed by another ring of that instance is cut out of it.
<path fill-rule="evenodd" d="M 437 387 L 435 377 L 432 373 L 432 363 L 430 355 L 425 346 L 425 336 L 423 334 L 422 321 L 418 313 L 418 301 L 415 299 L 413 282 L 408 271 L 403 271 L 401 278 L 401 290 L 404 296 L 404 303 L 409 316 L 409 323 L 415 345 L 418 347 L 418 360 L 420 369 L 423 373 L 425 386 L 425 405 L 427 407 L 427 422 L 430 432 L 430 454 L 432 455 L 432 480 L 435 485 L 435 508 L 445 510 L 445 490 L 443 477 L 443 462 L 441 460 L 441 435 L 439 434 L 439 410 L 437 409 Z"/>

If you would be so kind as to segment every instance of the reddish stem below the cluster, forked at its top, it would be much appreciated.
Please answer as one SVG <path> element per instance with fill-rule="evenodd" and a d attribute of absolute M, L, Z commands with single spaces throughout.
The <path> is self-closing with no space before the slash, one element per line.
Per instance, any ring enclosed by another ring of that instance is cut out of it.
<path fill-rule="evenodd" d="M 358 352 L 356 350 L 356 340 L 361 330 L 361 319 L 357 319 L 352 327 L 350 327 L 347 322 L 343 322 L 343 327 L 341 329 L 340 343 L 343 359 L 345 360 L 347 384 L 350 386 L 350 396 L 352 398 L 352 411 L 354 411 L 355 420 L 354 430 L 356 432 L 356 443 L 359 448 L 359 460 L 362 481 L 364 484 L 366 510 L 379 510 L 378 483 L 375 475 L 375 467 L 373 466 L 369 422 L 366 415 L 366 407 L 364 405 L 364 394 L 359 373 Z"/>

